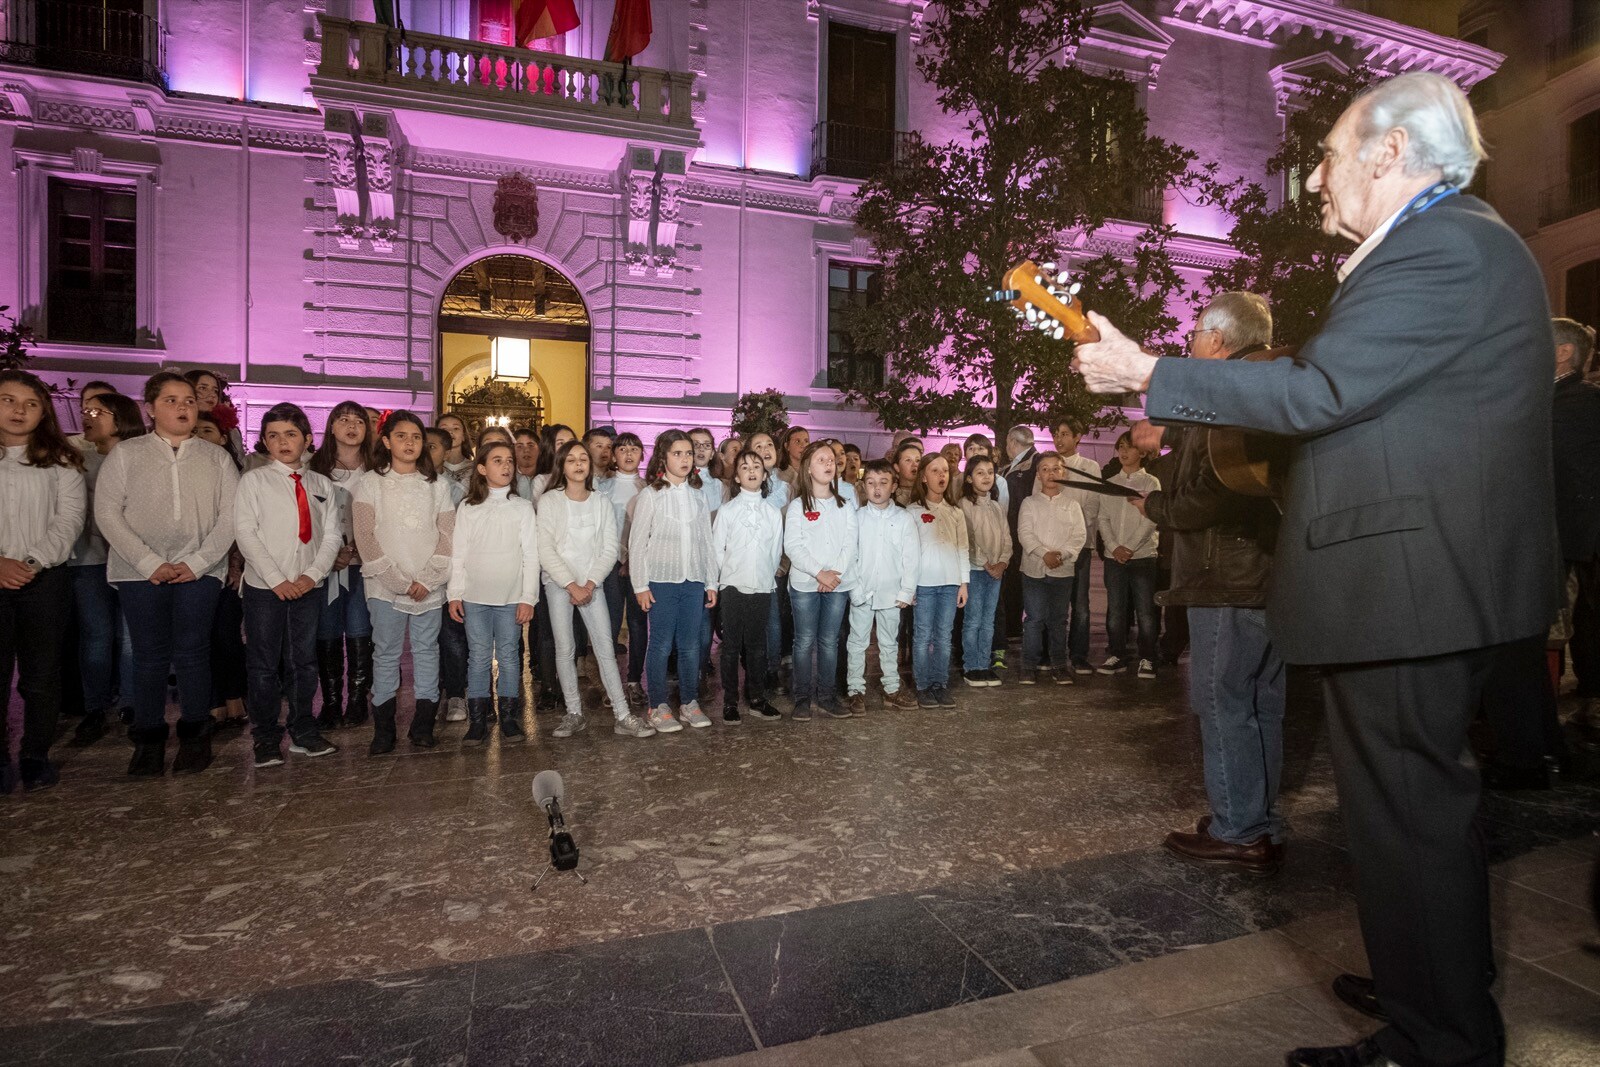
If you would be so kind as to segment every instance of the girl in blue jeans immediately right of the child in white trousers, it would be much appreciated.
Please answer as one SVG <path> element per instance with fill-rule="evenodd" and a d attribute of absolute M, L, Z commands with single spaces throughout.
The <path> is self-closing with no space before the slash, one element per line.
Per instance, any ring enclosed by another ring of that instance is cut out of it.
<path fill-rule="evenodd" d="M 906 510 L 917 523 L 917 608 L 912 629 L 912 675 L 917 704 L 955 707 L 950 696 L 950 632 L 957 608 L 966 606 L 971 544 L 966 517 L 950 485 L 950 461 L 928 453 L 917 467 L 915 502 Z"/>

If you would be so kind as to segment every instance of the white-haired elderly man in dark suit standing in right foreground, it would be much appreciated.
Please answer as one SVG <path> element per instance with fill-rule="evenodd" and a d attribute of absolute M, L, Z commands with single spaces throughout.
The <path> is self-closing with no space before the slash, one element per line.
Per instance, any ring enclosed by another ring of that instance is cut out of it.
<path fill-rule="evenodd" d="M 1557 608 L 1549 306 L 1522 240 L 1459 194 L 1483 150 L 1454 83 L 1382 82 L 1323 149 L 1307 189 L 1358 248 L 1298 358 L 1157 360 L 1099 315 L 1077 358 L 1096 392 L 1147 390 L 1152 418 L 1293 438 L 1267 625 L 1288 662 L 1322 667 L 1389 1025 L 1286 1062 L 1498 1067 L 1467 723 L 1496 648 Z"/>

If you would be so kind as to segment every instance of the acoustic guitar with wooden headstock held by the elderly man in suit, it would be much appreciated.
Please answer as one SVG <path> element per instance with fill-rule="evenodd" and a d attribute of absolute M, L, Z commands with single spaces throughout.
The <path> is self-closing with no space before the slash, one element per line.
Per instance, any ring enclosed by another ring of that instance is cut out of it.
<path fill-rule="evenodd" d="M 1024 259 L 1006 270 L 1000 290 L 990 299 L 1006 302 L 1013 314 L 1030 330 L 1038 330 L 1056 341 L 1070 339 L 1075 344 L 1099 341 L 1099 331 L 1083 314 L 1078 301 L 1078 283 L 1069 285 L 1069 274 L 1056 270 L 1056 264 L 1035 264 Z M 1266 349 L 1243 358 L 1251 362 L 1293 358 L 1296 347 Z M 1283 469 L 1288 459 L 1288 442 L 1269 434 L 1250 434 L 1227 427 L 1208 429 L 1206 446 L 1211 469 L 1218 480 L 1240 496 L 1266 496 L 1280 499 Z"/>

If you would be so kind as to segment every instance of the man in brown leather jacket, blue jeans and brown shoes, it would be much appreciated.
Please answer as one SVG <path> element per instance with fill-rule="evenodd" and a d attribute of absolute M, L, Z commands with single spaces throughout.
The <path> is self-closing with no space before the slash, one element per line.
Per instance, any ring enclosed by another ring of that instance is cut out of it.
<path fill-rule="evenodd" d="M 1272 310 L 1261 296 L 1221 293 L 1189 331 L 1189 355 L 1237 360 L 1270 341 Z M 1160 427 L 1141 422 L 1133 432 L 1134 445 L 1160 446 Z M 1283 859 L 1283 659 L 1264 608 L 1278 512 L 1222 485 L 1203 427 L 1165 434 L 1174 438 L 1176 475 L 1131 504 L 1171 531 L 1173 584 L 1160 600 L 1189 608 L 1189 693 L 1211 813 L 1163 845 L 1190 862 L 1272 873 Z"/>

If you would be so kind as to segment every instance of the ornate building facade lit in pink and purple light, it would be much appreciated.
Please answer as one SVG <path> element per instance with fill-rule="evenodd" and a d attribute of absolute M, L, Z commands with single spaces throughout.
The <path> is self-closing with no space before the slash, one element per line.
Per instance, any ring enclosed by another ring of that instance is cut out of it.
<path fill-rule="evenodd" d="M 285 398 L 318 426 L 347 397 L 440 411 L 499 371 L 546 421 L 646 442 L 720 435 L 776 387 L 813 434 L 882 446 L 838 400 L 880 368 L 829 314 L 874 269 L 859 176 L 958 128 L 915 72 L 925 0 L 654 0 L 626 90 L 600 61 L 611 6 L 578 0 L 579 29 L 518 50 L 506 0 L 398 0 L 403 40 L 371 0 L 0 0 L 0 302 L 35 366 L 130 392 L 210 366 L 250 429 Z M 1264 181 L 1320 69 L 1470 88 L 1498 67 L 1381 6 L 1117 0 L 1077 61 Z M 1230 254 L 1226 219 L 1179 197 L 1130 214 L 1064 248 L 1166 219 L 1190 280 Z M 494 338 L 531 365 L 493 365 Z"/>

